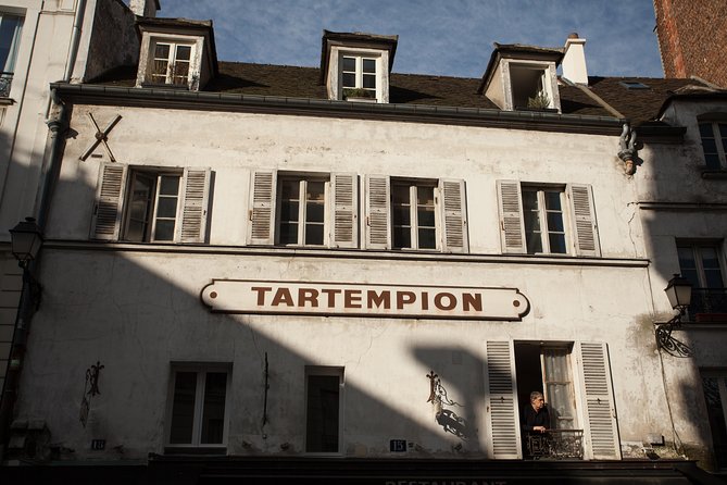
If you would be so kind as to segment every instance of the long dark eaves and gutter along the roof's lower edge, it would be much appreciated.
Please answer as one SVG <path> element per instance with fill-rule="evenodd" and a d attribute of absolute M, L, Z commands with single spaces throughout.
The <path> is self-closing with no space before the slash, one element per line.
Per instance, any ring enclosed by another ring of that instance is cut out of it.
<path fill-rule="evenodd" d="M 547 112 L 501 111 L 430 104 L 384 104 L 312 98 L 254 96 L 168 88 L 129 88 L 52 83 L 65 102 L 190 111 L 221 111 L 482 126 L 539 132 L 619 135 L 625 119 Z"/>

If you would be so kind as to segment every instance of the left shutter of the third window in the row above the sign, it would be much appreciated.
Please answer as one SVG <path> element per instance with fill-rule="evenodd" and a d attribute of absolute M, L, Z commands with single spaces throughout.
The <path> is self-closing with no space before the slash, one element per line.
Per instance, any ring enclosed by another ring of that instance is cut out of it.
<path fill-rule="evenodd" d="M 388 175 L 366 177 L 366 248 L 391 248 L 390 188 Z"/>

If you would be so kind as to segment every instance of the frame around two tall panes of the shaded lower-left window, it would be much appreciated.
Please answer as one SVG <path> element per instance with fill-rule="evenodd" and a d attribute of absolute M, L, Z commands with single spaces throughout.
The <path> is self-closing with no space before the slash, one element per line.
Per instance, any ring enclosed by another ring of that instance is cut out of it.
<path fill-rule="evenodd" d="M 195 388 L 195 403 L 192 414 L 192 430 L 190 443 L 172 443 L 172 421 L 174 418 L 174 397 L 176 390 L 176 376 L 180 372 L 189 372 L 197 374 L 197 382 Z M 206 389 L 206 374 L 208 373 L 225 373 L 225 410 L 223 416 L 223 437 L 222 443 L 201 443 L 202 421 L 204 415 L 204 391 Z M 170 369 L 170 383 L 167 388 L 166 399 L 166 425 L 164 430 L 164 446 L 168 449 L 206 449 L 216 451 L 227 448 L 229 434 L 229 419 L 230 419 L 230 402 L 231 402 L 231 381 L 233 380 L 233 364 L 226 362 L 208 362 L 208 363 L 190 363 L 190 362 L 173 362 Z M 200 386 L 200 383 L 202 384 Z"/>

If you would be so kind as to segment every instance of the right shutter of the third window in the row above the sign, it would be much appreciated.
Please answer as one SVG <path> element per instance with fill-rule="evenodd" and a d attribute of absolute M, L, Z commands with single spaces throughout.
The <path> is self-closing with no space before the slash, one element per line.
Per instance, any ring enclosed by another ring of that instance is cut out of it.
<path fill-rule="evenodd" d="M 442 250 L 444 252 L 469 252 L 467 239 L 467 209 L 464 181 L 439 181 L 442 221 Z"/>

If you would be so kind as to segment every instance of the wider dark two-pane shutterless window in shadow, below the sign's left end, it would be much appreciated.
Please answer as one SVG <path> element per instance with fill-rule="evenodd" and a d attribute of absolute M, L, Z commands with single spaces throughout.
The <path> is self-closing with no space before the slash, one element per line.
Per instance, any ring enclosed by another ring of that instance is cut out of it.
<path fill-rule="evenodd" d="M 227 438 L 227 388 L 224 365 L 177 366 L 173 370 L 170 446 L 224 446 Z"/>

